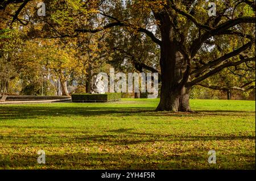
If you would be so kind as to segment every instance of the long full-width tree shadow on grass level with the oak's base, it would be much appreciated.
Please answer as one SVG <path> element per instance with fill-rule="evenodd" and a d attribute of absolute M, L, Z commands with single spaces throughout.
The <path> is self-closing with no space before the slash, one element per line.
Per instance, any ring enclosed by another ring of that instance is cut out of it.
<path fill-rule="evenodd" d="M 205 115 L 230 116 L 230 113 L 251 113 L 246 111 L 200 110 L 195 113 L 155 112 L 152 107 L 39 107 L 39 106 L 1 106 L 0 121 L 5 119 L 36 119 L 40 117 L 59 116 L 176 116 L 193 117 Z M 246 116 L 246 115 L 243 116 Z"/>

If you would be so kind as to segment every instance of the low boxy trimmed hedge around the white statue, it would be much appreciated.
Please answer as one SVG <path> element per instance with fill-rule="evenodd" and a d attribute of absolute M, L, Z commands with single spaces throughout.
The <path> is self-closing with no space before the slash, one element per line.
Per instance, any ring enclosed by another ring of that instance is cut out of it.
<path fill-rule="evenodd" d="M 72 94 L 72 102 L 114 102 L 122 98 L 121 93 L 106 93 L 106 94 Z"/>

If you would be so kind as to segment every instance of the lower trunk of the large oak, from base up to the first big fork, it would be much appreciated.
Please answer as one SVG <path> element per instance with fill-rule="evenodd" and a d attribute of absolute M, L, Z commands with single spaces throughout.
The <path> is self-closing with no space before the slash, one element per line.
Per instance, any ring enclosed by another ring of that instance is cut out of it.
<path fill-rule="evenodd" d="M 187 61 L 177 47 L 178 45 L 167 40 L 161 48 L 162 88 L 157 111 L 191 111 L 189 107 L 190 88 L 181 84 Z"/>

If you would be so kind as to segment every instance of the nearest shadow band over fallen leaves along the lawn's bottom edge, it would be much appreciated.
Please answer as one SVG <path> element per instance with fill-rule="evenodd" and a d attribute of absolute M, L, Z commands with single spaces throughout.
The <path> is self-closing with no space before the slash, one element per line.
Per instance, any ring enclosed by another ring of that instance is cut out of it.
<path fill-rule="evenodd" d="M 207 152 L 206 152 L 207 153 Z M 244 156 L 244 155 L 242 155 Z M 218 165 L 210 165 L 209 155 L 200 154 L 151 154 L 139 155 L 129 153 L 69 153 L 52 154 L 46 151 L 46 164 L 37 163 L 38 155 L 17 154 L 14 157 L 0 155 L 0 169 L 255 169 L 253 155 L 246 155 L 251 162 L 236 161 L 230 163 L 234 155 L 218 157 Z M 237 154 L 236 157 L 240 157 Z M 225 165 L 224 163 L 228 163 Z"/>

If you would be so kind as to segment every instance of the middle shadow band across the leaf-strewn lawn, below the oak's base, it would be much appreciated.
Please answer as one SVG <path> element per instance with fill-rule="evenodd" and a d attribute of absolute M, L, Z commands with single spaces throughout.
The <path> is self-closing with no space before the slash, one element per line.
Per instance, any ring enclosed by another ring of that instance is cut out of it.
<path fill-rule="evenodd" d="M 63 131 L 55 135 L 44 134 L 42 136 L 2 136 L 0 141 L 9 140 L 15 144 L 105 144 L 109 146 L 114 145 L 136 145 L 136 144 L 152 144 L 153 142 L 182 142 L 182 141 L 234 141 L 234 140 L 255 140 L 255 136 L 245 135 L 182 135 L 182 134 L 154 134 L 154 133 L 141 133 L 134 132 L 133 129 L 114 129 L 106 131 L 106 133 L 92 134 L 87 132 L 79 132 L 78 136 L 70 136 L 69 133 Z M 112 133 L 112 134 L 109 134 Z"/>

